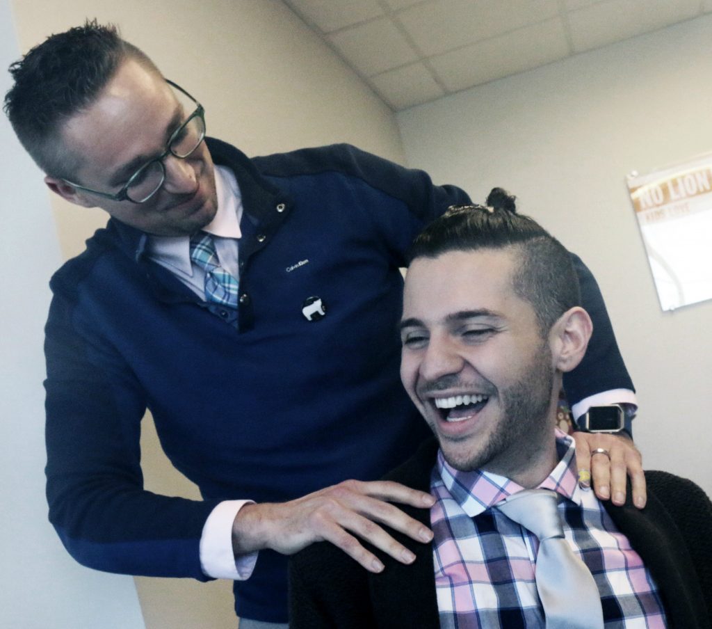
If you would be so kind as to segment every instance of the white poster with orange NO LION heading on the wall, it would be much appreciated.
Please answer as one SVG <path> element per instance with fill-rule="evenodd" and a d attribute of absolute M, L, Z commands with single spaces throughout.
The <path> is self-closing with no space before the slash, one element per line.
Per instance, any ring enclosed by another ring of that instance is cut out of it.
<path fill-rule="evenodd" d="M 712 153 L 627 184 L 660 307 L 712 299 Z"/>

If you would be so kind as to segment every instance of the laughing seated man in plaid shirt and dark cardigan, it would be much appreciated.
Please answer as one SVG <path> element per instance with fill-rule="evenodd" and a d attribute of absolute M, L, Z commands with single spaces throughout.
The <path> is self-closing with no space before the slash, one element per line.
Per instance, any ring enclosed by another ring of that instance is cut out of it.
<path fill-rule="evenodd" d="M 648 472 L 645 509 L 600 501 L 577 483 L 575 444 L 555 427 L 562 374 L 592 331 L 561 244 L 528 217 L 456 207 L 411 259 L 401 378 L 436 439 L 387 478 L 436 498 L 429 515 L 406 509 L 434 539 L 397 535 L 416 561 L 375 551 L 379 574 L 328 544 L 300 552 L 291 626 L 710 627 L 708 497 Z M 550 514 L 531 521 L 540 498 Z M 564 563 L 552 565 L 557 553 Z"/>

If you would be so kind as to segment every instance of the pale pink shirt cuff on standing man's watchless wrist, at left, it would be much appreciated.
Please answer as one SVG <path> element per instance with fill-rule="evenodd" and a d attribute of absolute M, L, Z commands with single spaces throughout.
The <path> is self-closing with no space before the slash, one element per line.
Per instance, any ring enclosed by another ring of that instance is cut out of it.
<path fill-rule="evenodd" d="M 226 500 L 211 511 L 200 536 L 200 566 L 212 578 L 244 581 L 250 578 L 257 552 L 238 557 L 232 551 L 232 524 L 235 516 L 252 500 Z"/>

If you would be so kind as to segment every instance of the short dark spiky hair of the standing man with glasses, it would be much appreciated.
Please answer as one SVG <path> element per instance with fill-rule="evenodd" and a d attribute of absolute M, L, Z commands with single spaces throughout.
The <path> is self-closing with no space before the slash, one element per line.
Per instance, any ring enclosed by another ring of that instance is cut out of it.
<path fill-rule="evenodd" d="M 49 36 L 11 64 L 14 85 L 5 95 L 4 110 L 21 144 L 47 175 L 73 176 L 81 155 L 70 155 L 63 145 L 62 125 L 95 103 L 127 58 L 159 73 L 145 53 L 119 36 L 116 26 L 87 20 Z"/>

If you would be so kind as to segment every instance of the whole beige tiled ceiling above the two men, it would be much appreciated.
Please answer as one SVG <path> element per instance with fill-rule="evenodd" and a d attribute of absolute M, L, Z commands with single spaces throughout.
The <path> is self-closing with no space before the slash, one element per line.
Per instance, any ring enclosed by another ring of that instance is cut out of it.
<path fill-rule="evenodd" d="M 283 0 L 392 110 L 712 12 L 712 0 Z"/>

